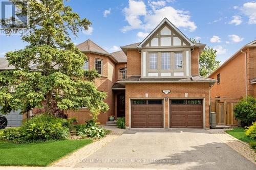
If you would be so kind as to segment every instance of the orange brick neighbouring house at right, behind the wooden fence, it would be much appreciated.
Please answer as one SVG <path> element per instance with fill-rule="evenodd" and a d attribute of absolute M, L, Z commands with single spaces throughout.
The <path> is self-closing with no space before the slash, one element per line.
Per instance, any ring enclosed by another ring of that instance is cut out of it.
<path fill-rule="evenodd" d="M 209 78 L 217 80 L 210 88 L 212 98 L 256 98 L 256 40 L 244 45 Z"/>

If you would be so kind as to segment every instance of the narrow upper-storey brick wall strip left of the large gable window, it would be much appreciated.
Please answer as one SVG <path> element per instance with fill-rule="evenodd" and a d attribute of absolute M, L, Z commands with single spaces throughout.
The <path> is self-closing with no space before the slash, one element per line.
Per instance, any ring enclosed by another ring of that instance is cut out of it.
<path fill-rule="evenodd" d="M 141 55 L 138 50 L 127 50 L 127 77 L 140 76 Z"/>

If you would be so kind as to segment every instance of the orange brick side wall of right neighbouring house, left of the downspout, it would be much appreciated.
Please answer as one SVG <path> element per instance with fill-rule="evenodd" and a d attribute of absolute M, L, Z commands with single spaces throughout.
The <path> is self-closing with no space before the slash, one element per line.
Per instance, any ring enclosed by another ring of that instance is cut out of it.
<path fill-rule="evenodd" d="M 241 53 L 227 65 L 220 68 L 210 78 L 217 80 L 220 74 L 220 83 L 210 88 L 211 98 L 240 98 L 245 96 L 245 54 Z"/>

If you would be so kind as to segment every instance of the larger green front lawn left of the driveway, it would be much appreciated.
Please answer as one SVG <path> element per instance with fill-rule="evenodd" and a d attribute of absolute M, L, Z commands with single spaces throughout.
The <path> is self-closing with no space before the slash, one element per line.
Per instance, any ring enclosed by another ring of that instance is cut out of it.
<path fill-rule="evenodd" d="M 0 165 L 47 166 L 91 142 L 91 139 L 29 144 L 0 142 Z"/>

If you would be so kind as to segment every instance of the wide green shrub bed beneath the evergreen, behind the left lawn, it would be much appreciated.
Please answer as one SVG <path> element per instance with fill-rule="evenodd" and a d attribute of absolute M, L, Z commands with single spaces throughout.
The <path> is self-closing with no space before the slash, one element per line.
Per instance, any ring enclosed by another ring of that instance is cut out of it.
<path fill-rule="evenodd" d="M 26 120 L 20 128 L 6 129 L 2 140 L 15 143 L 41 142 L 46 140 L 67 139 L 69 122 L 49 114 L 39 114 Z"/>

